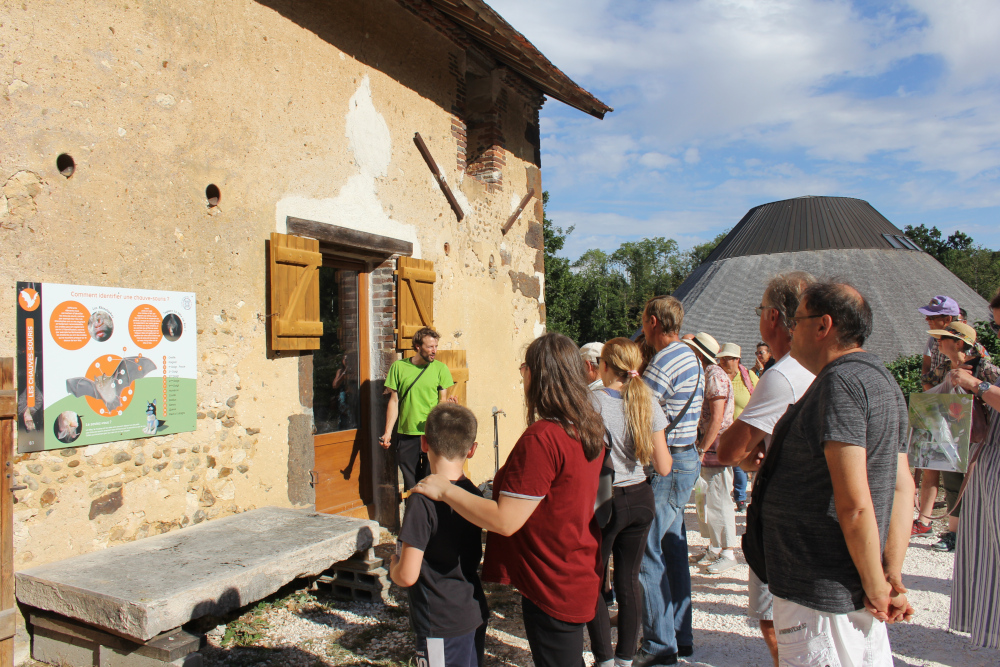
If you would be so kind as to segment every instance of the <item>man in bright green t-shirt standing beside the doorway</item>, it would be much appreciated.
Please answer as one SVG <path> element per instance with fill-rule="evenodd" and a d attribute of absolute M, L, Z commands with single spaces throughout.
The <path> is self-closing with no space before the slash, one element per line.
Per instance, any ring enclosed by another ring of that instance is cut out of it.
<path fill-rule="evenodd" d="M 434 361 L 440 339 L 440 334 L 430 327 L 417 331 L 413 334 L 413 349 L 417 353 L 393 362 L 385 379 L 389 405 L 385 411 L 385 433 L 379 444 L 386 449 L 392 444 L 392 427 L 398 417 L 396 460 L 403 472 L 404 491 L 409 491 L 428 473 L 427 467 L 421 465 L 420 436 L 424 434 L 427 415 L 445 400 L 446 390 L 455 384 L 448 366 Z M 458 402 L 455 398 L 449 400 Z"/>

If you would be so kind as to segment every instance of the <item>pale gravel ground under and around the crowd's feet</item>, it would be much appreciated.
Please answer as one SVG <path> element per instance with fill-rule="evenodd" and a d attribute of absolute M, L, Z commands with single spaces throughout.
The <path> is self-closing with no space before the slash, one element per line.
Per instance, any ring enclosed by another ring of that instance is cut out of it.
<path fill-rule="evenodd" d="M 686 525 L 697 527 L 693 505 Z M 745 515 L 737 515 L 742 533 Z M 944 522 L 935 523 L 935 533 Z M 949 592 L 953 555 L 931 549 L 935 533 L 911 540 L 904 569 L 910 600 L 916 609 L 911 623 L 890 626 L 895 664 L 908 667 L 987 667 L 1000 665 L 1000 651 L 973 646 L 966 635 L 950 632 Z M 383 531 L 379 556 L 388 559 L 392 536 Z M 707 545 L 697 530 L 688 531 L 692 552 Z M 769 667 L 770 655 L 755 625 L 746 617 L 748 567 L 737 550 L 739 565 L 719 575 L 691 567 L 695 654 L 680 664 L 699 667 Z M 520 597 L 503 586 L 487 588 L 491 619 L 487 664 L 533 667 L 520 621 Z M 322 591 L 279 592 L 236 618 L 205 621 L 192 629 L 207 633 L 202 649 L 207 667 L 318 667 L 320 665 L 413 664 L 405 592 L 393 585 L 386 604 L 339 602 Z M 588 665 L 593 663 L 585 635 Z M 31 662 L 32 665 L 41 663 Z"/>

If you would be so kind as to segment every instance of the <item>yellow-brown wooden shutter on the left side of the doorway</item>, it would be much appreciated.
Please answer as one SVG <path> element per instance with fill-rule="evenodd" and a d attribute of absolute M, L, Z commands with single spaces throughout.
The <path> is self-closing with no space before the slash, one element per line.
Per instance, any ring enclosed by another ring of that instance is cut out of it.
<path fill-rule="evenodd" d="M 271 349 L 318 350 L 323 322 L 319 316 L 319 241 L 271 234 Z"/>

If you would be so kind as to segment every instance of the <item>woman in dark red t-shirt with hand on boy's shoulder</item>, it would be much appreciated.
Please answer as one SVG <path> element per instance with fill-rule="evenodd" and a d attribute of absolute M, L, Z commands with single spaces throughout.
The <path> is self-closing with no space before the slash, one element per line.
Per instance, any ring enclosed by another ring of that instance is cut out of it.
<path fill-rule="evenodd" d="M 413 490 L 489 531 L 482 578 L 520 591 L 535 665 L 580 667 L 583 626 L 594 616 L 601 584 L 593 517 L 604 423 L 569 338 L 551 333 L 532 342 L 521 377 L 528 428 L 497 471 L 495 500 L 439 475 Z"/>

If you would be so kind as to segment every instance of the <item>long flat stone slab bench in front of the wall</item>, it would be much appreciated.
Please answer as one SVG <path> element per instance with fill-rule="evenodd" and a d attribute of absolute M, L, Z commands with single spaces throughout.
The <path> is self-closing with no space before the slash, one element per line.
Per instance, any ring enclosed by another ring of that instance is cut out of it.
<path fill-rule="evenodd" d="M 145 642 L 252 604 L 374 544 L 374 521 L 264 507 L 21 570 L 21 604 Z"/>

